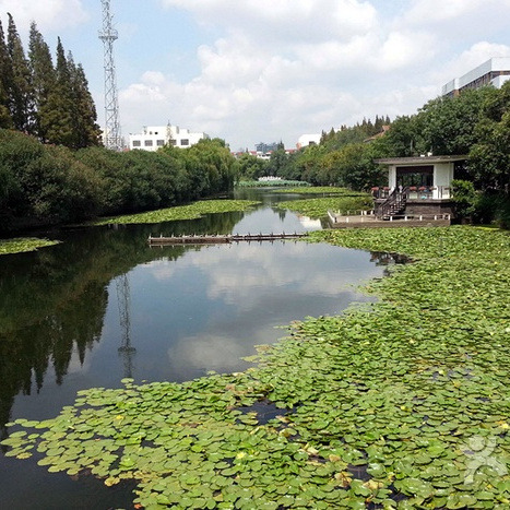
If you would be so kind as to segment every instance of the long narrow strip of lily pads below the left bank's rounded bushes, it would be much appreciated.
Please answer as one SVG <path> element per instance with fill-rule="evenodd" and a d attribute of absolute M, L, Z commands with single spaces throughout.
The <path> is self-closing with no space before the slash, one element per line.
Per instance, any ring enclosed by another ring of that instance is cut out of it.
<path fill-rule="evenodd" d="M 159 209 L 146 213 L 131 214 L 103 218 L 95 225 L 129 224 L 129 223 L 162 223 L 179 220 L 195 220 L 204 214 L 228 213 L 234 211 L 246 211 L 260 202 L 252 200 L 202 200 L 189 205 Z"/>

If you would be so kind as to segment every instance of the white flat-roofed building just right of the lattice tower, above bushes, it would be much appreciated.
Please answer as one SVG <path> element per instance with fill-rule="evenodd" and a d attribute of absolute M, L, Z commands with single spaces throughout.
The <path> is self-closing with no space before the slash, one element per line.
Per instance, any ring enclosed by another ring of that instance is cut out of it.
<path fill-rule="evenodd" d="M 164 145 L 186 149 L 203 139 L 209 139 L 209 135 L 192 133 L 178 126 L 144 126 L 142 133 L 129 135 L 129 150 L 157 151 Z"/>

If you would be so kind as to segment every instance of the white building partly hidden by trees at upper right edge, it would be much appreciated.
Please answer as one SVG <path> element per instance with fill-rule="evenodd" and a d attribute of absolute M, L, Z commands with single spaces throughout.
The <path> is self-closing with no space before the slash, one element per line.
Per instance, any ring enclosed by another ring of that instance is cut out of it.
<path fill-rule="evenodd" d="M 507 80 L 510 80 L 510 57 L 493 58 L 461 78 L 448 82 L 442 87 L 442 95 L 458 96 L 462 91 L 484 85 L 500 88 Z"/>

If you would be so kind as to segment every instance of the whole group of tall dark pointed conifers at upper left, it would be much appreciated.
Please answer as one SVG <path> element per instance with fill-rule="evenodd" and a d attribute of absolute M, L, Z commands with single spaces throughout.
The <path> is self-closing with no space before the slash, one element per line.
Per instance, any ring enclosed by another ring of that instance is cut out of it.
<path fill-rule="evenodd" d="M 100 130 L 83 68 L 67 58 L 60 38 L 54 68 L 48 45 L 31 25 L 28 59 L 9 14 L 0 24 L 0 128 L 14 128 L 40 141 L 72 149 L 97 145 Z"/>

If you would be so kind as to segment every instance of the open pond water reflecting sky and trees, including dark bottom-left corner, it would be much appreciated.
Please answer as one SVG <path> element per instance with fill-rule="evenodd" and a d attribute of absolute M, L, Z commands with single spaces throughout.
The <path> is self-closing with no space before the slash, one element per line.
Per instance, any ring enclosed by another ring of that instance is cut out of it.
<path fill-rule="evenodd" d="M 251 191 L 253 193 L 253 191 Z M 242 198 L 242 197 L 241 197 Z M 250 199 L 253 195 L 249 197 Z M 239 371 L 253 345 L 307 316 L 335 315 L 367 300 L 355 292 L 383 266 L 368 252 L 303 241 L 168 246 L 149 236 L 306 233 L 320 223 L 271 205 L 199 221 L 68 229 L 61 245 L 2 257 L 0 430 L 44 419 L 80 389 L 118 388 L 123 377 L 185 381 Z M 284 195 L 288 200 L 288 195 Z M 35 459 L 0 451 L 1 508 L 132 508 L 132 486 L 50 474 Z"/>

